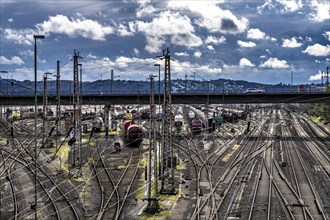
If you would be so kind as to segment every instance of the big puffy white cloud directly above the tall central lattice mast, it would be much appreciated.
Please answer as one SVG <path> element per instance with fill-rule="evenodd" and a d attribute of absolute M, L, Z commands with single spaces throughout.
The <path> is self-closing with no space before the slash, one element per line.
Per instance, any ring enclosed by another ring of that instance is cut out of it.
<path fill-rule="evenodd" d="M 190 18 L 181 16 L 179 13 L 162 12 L 151 22 L 135 22 L 135 28 L 146 35 L 145 49 L 150 53 L 159 52 L 167 37 L 170 37 L 172 44 L 188 48 L 197 47 L 203 43 L 201 38 L 194 34 L 195 29 Z"/>

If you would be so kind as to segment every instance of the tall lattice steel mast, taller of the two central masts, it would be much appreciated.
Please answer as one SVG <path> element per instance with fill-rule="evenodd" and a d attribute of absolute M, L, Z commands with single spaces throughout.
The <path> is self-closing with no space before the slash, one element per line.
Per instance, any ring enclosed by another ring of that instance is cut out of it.
<path fill-rule="evenodd" d="M 163 55 L 160 59 L 165 59 L 164 66 L 164 100 L 163 100 L 163 149 L 162 149 L 162 173 L 161 175 L 161 190 L 162 194 L 175 194 L 174 186 L 174 157 L 172 146 L 172 98 L 171 98 L 171 66 L 170 66 L 170 51 L 167 49 L 166 54 L 163 50 Z"/>

